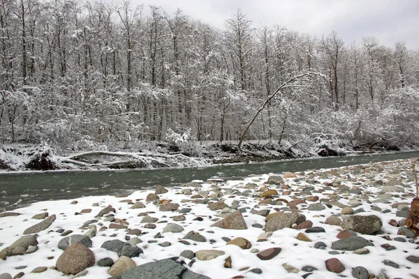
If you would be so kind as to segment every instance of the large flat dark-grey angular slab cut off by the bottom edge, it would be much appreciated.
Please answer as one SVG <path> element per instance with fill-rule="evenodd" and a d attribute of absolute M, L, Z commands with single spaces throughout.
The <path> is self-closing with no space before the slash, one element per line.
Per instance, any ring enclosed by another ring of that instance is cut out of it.
<path fill-rule="evenodd" d="M 161 259 L 157 262 L 147 262 L 129 269 L 122 274 L 122 279 L 149 279 L 149 278 L 179 278 L 179 279 L 210 279 L 199 273 L 194 273 L 182 263 L 173 259 Z"/>

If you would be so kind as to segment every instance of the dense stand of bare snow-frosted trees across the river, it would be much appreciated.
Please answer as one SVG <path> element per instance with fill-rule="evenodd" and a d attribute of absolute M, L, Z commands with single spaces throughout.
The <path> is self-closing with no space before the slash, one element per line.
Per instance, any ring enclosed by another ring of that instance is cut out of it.
<path fill-rule="evenodd" d="M 219 30 L 129 1 L 0 2 L 3 143 L 418 144 L 419 52 L 404 43 L 253 29 L 240 10 Z"/>

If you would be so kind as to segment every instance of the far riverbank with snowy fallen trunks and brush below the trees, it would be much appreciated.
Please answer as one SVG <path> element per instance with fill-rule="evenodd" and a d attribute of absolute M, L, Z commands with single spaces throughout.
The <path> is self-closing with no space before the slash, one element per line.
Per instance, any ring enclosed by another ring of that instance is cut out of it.
<path fill-rule="evenodd" d="M 419 151 L 419 146 L 381 146 L 360 149 L 342 142 L 316 145 L 245 142 L 240 149 L 235 142 L 193 142 L 188 146 L 171 146 L 166 142 L 151 142 L 135 149 L 84 151 L 66 155 L 48 145 L 9 144 L 0 149 L 0 174 L 60 171 L 104 171 L 124 169 L 170 169 L 241 165 L 298 158 L 362 156 Z M 129 158 L 129 160 L 115 160 Z"/>

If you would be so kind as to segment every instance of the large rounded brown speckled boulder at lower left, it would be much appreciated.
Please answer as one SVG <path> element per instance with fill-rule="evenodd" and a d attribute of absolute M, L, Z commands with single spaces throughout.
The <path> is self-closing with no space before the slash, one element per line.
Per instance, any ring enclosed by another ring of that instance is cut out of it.
<path fill-rule="evenodd" d="M 89 266 L 94 266 L 94 253 L 82 244 L 73 244 L 59 256 L 55 268 L 57 271 L 68 274 L 77 274 Z"/>

